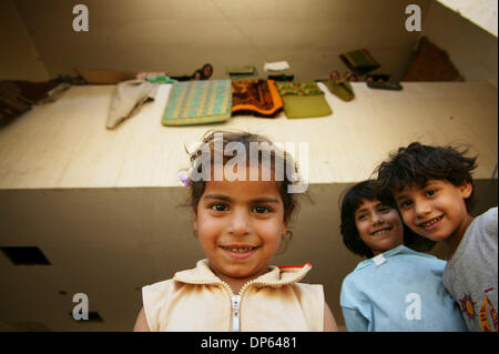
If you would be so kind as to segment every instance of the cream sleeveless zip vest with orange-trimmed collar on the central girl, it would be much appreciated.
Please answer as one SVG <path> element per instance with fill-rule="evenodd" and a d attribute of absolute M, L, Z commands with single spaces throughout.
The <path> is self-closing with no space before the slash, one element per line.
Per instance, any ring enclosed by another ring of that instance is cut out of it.
<path fill-rule="evenodd" d="M 297 283 L 310 269 L 309 263 L 271 266 L 237 297 L 202 260 L 193 270 L 142 289 L 145 317 L 151 331 L 323 331 L 323 285 Z"/>

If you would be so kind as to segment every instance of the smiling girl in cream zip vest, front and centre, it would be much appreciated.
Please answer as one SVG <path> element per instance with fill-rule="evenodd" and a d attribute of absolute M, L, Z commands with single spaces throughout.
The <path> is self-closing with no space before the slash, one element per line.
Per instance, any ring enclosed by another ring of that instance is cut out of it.
<path fill-rule="evenodd" d="M 254 155 L 252 144 L 262 153 Z M 206 259 L 143 287 L 135 331 L 337 330 L 323 286 L 298 283 L 309 263 L 269 265 L 297 205 L 288 189 L 297 179 L 276 171 L 284 164 L 295 171 L 296 165 L 288 153 L 273 148 L 256 134 L 210 132 L 191 153 L 185 184 Z"/>

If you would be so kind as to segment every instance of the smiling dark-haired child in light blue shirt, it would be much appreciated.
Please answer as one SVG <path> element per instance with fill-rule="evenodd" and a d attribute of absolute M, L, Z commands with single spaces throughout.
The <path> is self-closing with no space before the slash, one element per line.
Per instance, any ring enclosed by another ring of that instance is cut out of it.
<path fill-rule="evenodd" d="M 446 262 L 413 249 L 430 243 L 410 232 L 374 181 L 349 189 L 342 200 L 343 241 L 367 257 L 342 285 L 348 331 L 467 331 L 459 307 L 441 284 Z M 432 244 L 431 244 L 432 245 Z"/>

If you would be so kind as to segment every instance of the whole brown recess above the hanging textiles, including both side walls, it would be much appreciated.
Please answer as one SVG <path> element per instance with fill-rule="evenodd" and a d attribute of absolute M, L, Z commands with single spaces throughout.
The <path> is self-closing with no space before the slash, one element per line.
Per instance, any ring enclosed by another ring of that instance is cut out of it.
<path fill-rule="evenodd" d="M 204 62 L 226 68 L 287 60 L 298 80 L 345 71 L 338 55 L 368 48 L 378 71 L 400 79 L 419 36 L 445 49 L 470 81 L 497 87 L 497 38 L 437 1 L 88 0 L 89 32 L 74 32 L 82 1 L 6 0 L 0 4 L 0 79 L 45 80 L 81 69 L 190 74 Z M 405 8 L 422 10 L 422 32 L 405 30 Z"/>

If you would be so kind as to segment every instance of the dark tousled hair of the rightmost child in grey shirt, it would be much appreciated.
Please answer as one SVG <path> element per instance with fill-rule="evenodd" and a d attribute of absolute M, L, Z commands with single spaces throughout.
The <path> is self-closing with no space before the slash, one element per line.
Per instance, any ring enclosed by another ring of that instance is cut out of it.
<path fill-rule="evenodd" d="M 452 146 L 430 146 L 413 142 L 399 148 L 389 159 L 376 168 L 381 190 L 401 191 L 416 183 L 424 188 L 428 180 L 446 180 L 456 186 L 468 182 L 472 192 L 465 200 L 468 213 L 475 206 L 475 188 L 471 172 L 477 168 L 477 156 L 466 156 L 469 148 L 459 151 Z"/>

